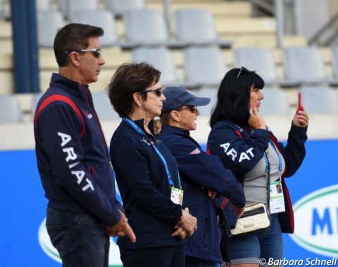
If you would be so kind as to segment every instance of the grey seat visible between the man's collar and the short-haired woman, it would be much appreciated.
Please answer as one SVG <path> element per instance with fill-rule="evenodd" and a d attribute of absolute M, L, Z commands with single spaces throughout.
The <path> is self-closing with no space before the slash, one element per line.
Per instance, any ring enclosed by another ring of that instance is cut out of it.
<path fill-rule="evenodd" d="M 105 91 L 92 93 L 94 108 L 100 120 L 120 119 Z"/>

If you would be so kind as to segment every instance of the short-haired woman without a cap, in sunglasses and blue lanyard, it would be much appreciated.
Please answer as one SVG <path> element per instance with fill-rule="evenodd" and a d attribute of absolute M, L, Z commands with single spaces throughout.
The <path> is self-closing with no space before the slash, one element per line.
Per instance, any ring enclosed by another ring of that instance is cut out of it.
<path fill-rule="evenodd" d="M 154 133 L 153 119 L 165 100 L 160 76 L 146 63 L 126 63 L 108 86 L 113 108 L 123 118 L 111 138 L 111 162 L 137 236 L 135 243 L 118 238 L 124 267 L 184 266 L 183 239 L 197 229 L 196 218 L 182 209 L 175 158 Z"/>

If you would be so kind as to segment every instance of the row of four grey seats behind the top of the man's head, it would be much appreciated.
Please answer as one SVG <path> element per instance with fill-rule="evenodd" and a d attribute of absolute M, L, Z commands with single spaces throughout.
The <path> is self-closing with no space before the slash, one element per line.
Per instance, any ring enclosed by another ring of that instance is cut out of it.
<path fill-rule="evenodd" d="M 38 44 L 52 47 L 57 30 L 68 22 L 95 25 L 104 29 L 101 46 L 134 48 L 142 45 L 183 47 L 189 44 L 219 44 L 231 46 L 232 42 L 218 37 L 211 12 L 183 8 L 175 12 L 175 38 L 170 36 L 168 24 L 161 11 L 136 8 L 123 16 L 125 38 L 121 37 L 113 17 L 107 10 L 79 10 L 64 20 L 60 11 L 38 11 Z"/>

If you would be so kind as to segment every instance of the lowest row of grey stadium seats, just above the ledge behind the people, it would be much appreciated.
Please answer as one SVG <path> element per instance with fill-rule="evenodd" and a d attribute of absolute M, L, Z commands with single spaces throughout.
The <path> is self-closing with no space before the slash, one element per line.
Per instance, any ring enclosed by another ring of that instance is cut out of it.
<path fill-rule="evenodd" d="M 204 88 L 194 90 L 196 96 L 210 97 L 211 103 L 204 107 L 199 107 L 203 116 L 210 116 L 211 109 L 215 105 L 217 88 Z M 301 86 L 299 91 L 303 96 L 303 106 L 310 114 L 337 114 L 338 96 L 335 89 L 329 86 Z M 295 112 L 295 107 L 290 105 L 286 91 L 280 88 L 267 87 L 262 91 L 264 100 L 261 103 L 262 115 L 291 115 Z M 119 119 L 118 114 L 113 110 L 106 92 L 94 92 L 93 101 L 101 120 Z M 0 95 L 0 124 L 21 123 L 31 121 L 35 112 L 37 101 L 42 93 L 30 95 L 30 109 L 23 110 L 20 96 Z M 25 112 L 28 114 L 25 115 Z M 25 119 L 25 117 L 27 117 Z"/>

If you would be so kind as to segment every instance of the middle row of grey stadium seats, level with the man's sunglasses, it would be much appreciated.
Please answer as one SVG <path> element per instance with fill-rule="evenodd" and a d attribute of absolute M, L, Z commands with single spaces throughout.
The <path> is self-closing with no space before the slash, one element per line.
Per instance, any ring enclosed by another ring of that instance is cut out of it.
<path fill-rule="evenodd" d="M 269 86 L 298 87 L 300 85 L 338 85 L 338 46 L 326 49 L 327 55 L 315 46 L 287 47 L 278 50 L 279 62 L 270 48 L 242 47 L 231 50 L 218 46 L 189 46 L 179 50 L 159 47 L 139 47 L 132 51 L 103 49 L 106 65 L 102 67 L 99 82 L 91 87 L 103 91 L 116 67 L 126 61 L 147 61 L 161 70 L 163 86 L 183 85 L 189 88 L 217 86 L 227 70 L 246 67 L 256 70 Z M 231 58 L 231 59 L 230 59 Z M 39 56 L 40 86 L 46 90 L 51 72 L 58 67 L 53 51 Z M 0 58 L 0 93 L 13 93 L 13 63 L 11 56 Z"/>

